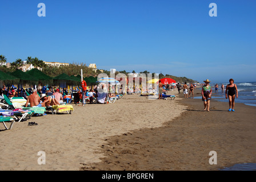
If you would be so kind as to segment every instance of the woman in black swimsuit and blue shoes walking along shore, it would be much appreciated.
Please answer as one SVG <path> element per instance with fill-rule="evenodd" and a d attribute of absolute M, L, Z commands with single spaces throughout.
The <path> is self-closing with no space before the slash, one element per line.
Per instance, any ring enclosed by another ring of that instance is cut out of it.
<path fill-rule="evenodd" d="M 226 87 L 226 98 L 229 96 L 229 111 L 235 111 L 235 96 L 238 98 L 237 85 L 234 84 L 234 80 L 232 78 L 229 80 L 229 82 L 230 84 L 228 84 Z"/>

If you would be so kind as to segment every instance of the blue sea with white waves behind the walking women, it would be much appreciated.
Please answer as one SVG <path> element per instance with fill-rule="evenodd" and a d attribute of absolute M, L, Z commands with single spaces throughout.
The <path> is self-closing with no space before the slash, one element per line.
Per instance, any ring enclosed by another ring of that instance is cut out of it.
<path fill-rule="evenodd" d="M 222 92 L 221 90 L 221 85 L 226 86 L 227 82 L 223 82 L 223 83 L 218 83 L 219 87 L 218 87 L 218 92 L 215 92 L 215 88 L 214 85 L 215 84 L 210 84 L 211 89 L 213 90 L 213 96 L 212 99 L 217 100 L 217 101 L 221 101 L 221 102 L 229 102 L 229 99 L 226 99 L 226 95 L 225 95 L 225 90 L 224 92 Z M 236 103 L 243 103 L 246 105 L 250 105 L 250 106 L 256 106 L 256 82 L 238 82 L 235 83 L 237 85 L 237 90 L 238 90 L 238 98 L 235 97 L 235 102 Z M 201 98 L 202 97 L 194 97 L 194 98 Z"/>

